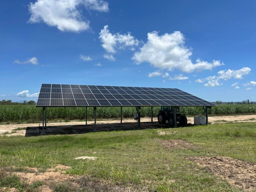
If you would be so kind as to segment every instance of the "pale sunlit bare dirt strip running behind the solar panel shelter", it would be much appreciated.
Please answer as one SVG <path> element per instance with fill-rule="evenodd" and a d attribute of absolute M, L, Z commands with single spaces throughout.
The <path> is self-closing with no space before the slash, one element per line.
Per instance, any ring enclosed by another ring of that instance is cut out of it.
<path fill-rule="evenodd" d="M 145 117 L 141 118 L 141 125 L 143 126 L 158 126 L 157 118 L 153 118 L 153 124 L 150 124 L 151 118 Z M 214 116 L 214 117 L 208 117 L 208 121 L 211 124 L 214 123 L 228 123 L 228 122 L 256 122 L 256 115 L 236 115 L 236 116 Z M 136 121 L 134 119 L 123 119 L 123 124 L 120 125 L 120 120 L 102 120 L 97 121 L 97 126 L 99 128 L 110 128 L 115 127 L 124 129 L 124 127 L 134 126 L 136 127 Z M 188 123 L 194 124 L 194 118 L 188 117 Z M 92 127 L 94 124 L 94 121 L 88 121 L 88 126 Z M 55 126 L 74 126 L 74 125 L 85 125 L 85 122 L 78 122 L 78 121 L 72 121 L 72 122 L 57 122 L 57 123 L 47 123 L 48 127 L 55 127 Z M 40 123 L 40 126 L 42 127 L 42 123 Z M 6 134 L 8 136 L 15 136 L 15 135 L 21 135 L 25 136 L 27 130 L 15 130 L 17 128 L 27 128 L 27 127 L 39 127 L 39 123 L 26 123 L 26 124 L 7 124 L 7 125 L 0 125 L 0 135 Z M 58 127 L 58 129 L 60 129 Z M 80 127 L 79 127 L 80 129 Z M 50 130 L 49 130 L 50 131 Z M 75 134 L 76 132 L 74 132 Z"/>

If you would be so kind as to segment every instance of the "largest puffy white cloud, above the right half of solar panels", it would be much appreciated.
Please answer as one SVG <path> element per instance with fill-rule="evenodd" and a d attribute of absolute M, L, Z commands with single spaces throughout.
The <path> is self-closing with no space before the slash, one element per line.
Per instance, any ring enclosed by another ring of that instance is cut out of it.
<path fill-rule="evenodd" d="M 193 63 L 190 59 L 191 49 L 185 47 L 185 37 L 180 31 L 158 35 L 153 31 L 148 33 L 148 41 L 135 52 L 132 59 L 136 64 L 149 62 L 153 67 L 190 73 L 194 70 L 211 70 L 224 65 L 220 61 L 212 62 L 197 59 Z"/>

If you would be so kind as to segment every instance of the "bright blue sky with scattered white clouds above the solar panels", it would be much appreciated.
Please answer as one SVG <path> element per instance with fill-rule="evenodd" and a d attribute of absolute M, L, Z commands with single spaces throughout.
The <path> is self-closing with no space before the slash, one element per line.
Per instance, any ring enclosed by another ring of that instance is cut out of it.
<path fill-rule="evenodd" d="M 255 1 L 4 1 L 0 100 L 42 83 L 179 88 L 256 97 Z"/>

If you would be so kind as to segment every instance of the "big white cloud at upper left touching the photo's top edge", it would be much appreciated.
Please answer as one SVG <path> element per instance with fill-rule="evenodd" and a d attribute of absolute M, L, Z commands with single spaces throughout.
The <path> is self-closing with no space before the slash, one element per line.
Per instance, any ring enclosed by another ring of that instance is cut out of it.
<path fill-rule="evenodd" d="M 81 14 L 79 6 L 99 12 L 109 11 L 103 0 L 37 0 L 30 3 L 29 23 L 44 22 L 60 31 L 80 32 L 90 29 L 90 21 Z"/>

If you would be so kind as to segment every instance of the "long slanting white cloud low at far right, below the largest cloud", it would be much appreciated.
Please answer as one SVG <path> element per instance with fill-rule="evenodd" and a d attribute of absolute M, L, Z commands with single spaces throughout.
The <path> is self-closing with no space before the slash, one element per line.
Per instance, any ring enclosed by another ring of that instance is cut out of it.
<path fill-rule="evenodd" d="M 215 87 L 215 86 L 220 86 L 223 83 L 220 83 L 220 80 L 227 80 L 231 79 L 232 77 L 234 79 L 242 79 L 244 75 L 248 75 L 251 72 L 251 69 L 249 67 L 243 67 L 238 70 L 221 70 L 217 74 L 217 76 L 209 76 L 203 79 L 197 79 L 196 82 L 198 83 L 203 83 L 205 81 L 208 81 L 207 83 L 204 84 L 206 87 Z M 256 83 L 256 82 L 255 82 Z M 236 86 L 238 83 L 234 83 L 235 85 L 231 86 Z M 245 85 L 245 84 L 243 84 Z"/>

